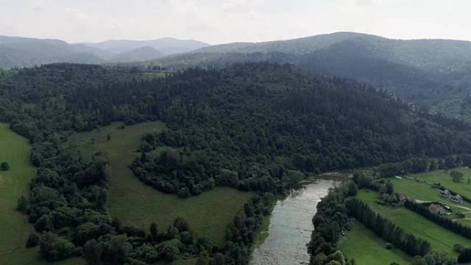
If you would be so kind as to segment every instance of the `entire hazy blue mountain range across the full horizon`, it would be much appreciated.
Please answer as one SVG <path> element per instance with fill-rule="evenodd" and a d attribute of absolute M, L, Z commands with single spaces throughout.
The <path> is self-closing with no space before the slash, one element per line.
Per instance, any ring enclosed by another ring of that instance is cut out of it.
<path fill-rule="evenodd" d="M 171 38 L 70 44 L 0 36 L 0 67 L 58 62 L 141 65 L 139 61 L 170 70 L 247 61 L 292 63 L 317 74 L 373 83 L 435 113 L 471 118 L 470 41 L 399 40 L 355 32 L 222 45 Z"/>

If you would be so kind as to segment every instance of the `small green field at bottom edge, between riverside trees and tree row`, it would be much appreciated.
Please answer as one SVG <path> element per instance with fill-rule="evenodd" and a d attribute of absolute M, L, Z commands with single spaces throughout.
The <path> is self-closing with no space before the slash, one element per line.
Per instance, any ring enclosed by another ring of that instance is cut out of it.
<path fill-rule="evenodd" d="M 410 264 L 412 258 L 399 249 L 386 249 L 386 242 L 377 237 L 373 231 L 367 229 L 362 223 L 356 222 L 353 229 L 348 231 L 339 242 L 339 249 L 348 259 L 355 259 L 357 264 L 377 265 Z M 371 257 L 375 253 L 375 258 Z"/>

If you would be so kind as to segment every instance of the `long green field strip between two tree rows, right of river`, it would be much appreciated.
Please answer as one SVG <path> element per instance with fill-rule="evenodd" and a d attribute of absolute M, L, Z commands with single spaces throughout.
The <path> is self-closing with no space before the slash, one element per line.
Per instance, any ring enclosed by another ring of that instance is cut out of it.
<path fill-rule="evenodd" d="M 384 218 L 400 226 L 404 231 L 430 242 L 433 251 L 443 251 L 450 255 L 457 255 L 453 251 L 454 244 L 471 246 L 471 240 L 443 229 L 438 224 L 404 207 L 388 207 L 377 204 L 378 193 L 376 192 L 360 190 L 357 197 L 368 203 L 373 210 L 380 213 Z"/>

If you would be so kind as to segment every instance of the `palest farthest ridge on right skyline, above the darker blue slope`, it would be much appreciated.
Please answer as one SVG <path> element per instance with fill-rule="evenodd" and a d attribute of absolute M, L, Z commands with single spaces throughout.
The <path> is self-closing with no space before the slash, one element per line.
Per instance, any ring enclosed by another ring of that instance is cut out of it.
<path fill-rule="evenodd" d="M 203 47 L 193 53 L 283 52 L 311 54 L 320 50 L 355 46 L 367 50 L 368 56 L 404 63 L 423 70 L 444 71 L 457 61 L 471 61 L 471 41 L 446 39 L 401 40 L 356 32 L 335 32 L 286 41 L 261 43 L 227 43 Z M 443 65 L 447 65 L 443 67 Z M 437 69 L 443 67 L 443 69 Z"/>

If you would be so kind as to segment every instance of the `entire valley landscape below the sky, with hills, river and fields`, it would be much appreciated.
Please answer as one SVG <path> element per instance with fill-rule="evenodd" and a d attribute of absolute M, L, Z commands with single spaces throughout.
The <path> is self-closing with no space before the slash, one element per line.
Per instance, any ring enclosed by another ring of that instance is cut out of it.
<path fill-rule="evenodd" d="M 470 264 L 470 50 L 0 36 L 0 264 Z"/>

